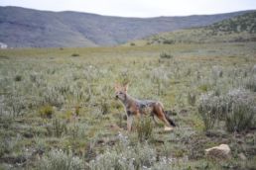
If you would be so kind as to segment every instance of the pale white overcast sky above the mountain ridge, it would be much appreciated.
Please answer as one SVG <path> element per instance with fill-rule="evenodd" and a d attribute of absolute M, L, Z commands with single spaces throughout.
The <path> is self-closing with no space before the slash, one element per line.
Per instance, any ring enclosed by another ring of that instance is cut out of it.
<path fill-rule="evenodd" d="M 0 0 L 0 6 L 123 17 L 157 17 L 256 9 L 256 0 Z"/>

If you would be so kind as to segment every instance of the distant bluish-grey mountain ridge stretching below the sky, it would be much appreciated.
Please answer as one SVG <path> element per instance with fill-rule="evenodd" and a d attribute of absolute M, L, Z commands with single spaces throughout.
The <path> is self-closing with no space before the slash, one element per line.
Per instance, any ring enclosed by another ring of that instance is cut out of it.
<path fill-rule="evenodd" d="M 142 19 L 0 7 L 0 42 L 9 47 L 113 45 L 207 26 L 247 12 Z"/>

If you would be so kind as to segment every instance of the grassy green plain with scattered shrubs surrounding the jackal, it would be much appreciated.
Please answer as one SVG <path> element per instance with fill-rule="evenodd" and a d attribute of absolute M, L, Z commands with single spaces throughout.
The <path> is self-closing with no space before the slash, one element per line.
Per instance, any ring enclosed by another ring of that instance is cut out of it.
<path fill-rule="evenodd" d="M 197 109 L 210 92 L 254 99 L 255 63 L 255 42 L 0 50 L 0 169 L 255 169 L 256 122 L 205 131 Z M 151 125 L 145 141 L 128 133 L 115 82 L 160 100 L 178 127 Z M 204 155 L 220 143 L 230 159 Z"/>

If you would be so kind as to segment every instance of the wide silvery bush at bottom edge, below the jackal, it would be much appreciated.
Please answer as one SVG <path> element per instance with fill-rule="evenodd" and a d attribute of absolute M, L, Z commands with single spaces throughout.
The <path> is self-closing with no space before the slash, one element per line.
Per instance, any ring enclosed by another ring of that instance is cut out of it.
<path fill-rule="evenodd" d="M 156 156 L 156 150 L 147 143 L 143 145 L 138 143 L 134 147 L 122 145 L 119 149 L 107 149 L 103 154 L 98 155 L 89 162 L 89 168 L 91 170 L 147 169 L 157 162 Z"/>

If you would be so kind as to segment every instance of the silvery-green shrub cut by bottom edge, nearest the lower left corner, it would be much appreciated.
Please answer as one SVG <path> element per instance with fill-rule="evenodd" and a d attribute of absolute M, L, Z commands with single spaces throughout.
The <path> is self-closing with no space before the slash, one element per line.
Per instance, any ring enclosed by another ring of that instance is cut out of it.
<path fill-rule="evenodd" d="M 42 158 L 40 170 L 82 170 L 84 169 L 83 161 L 74 156 L 71 151 L 54 149 Z"/>

